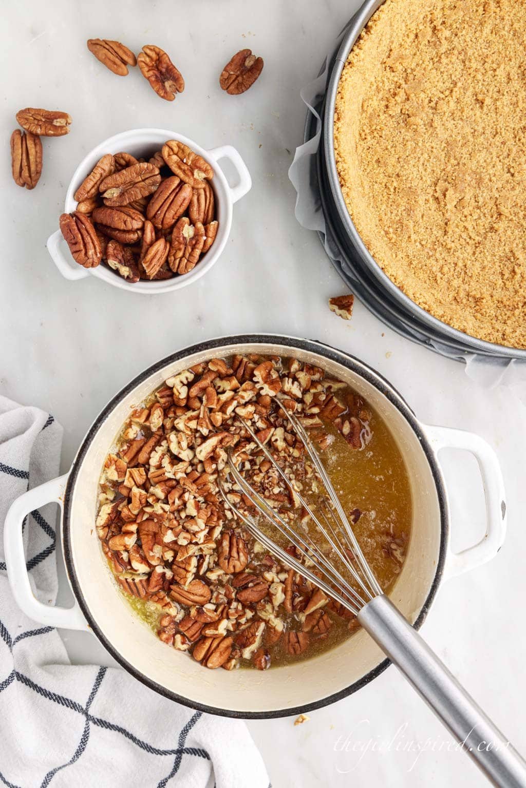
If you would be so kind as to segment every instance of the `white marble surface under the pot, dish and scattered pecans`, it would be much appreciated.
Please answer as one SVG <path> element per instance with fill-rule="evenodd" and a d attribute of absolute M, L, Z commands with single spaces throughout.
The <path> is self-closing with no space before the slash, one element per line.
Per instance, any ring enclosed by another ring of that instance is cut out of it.
<path fill-rule="evenodd" d="M 513 392 L 479 388 L 461 365 L 401 340 L 360 303 L 350 323 L 331 314 L 327 299 L 345 288 L 317 237 L 293 217 L 287 169 L 304 124 L 299 90 L 355 8 L 356 0 L 3 3 L 0 392 L 62 422 L 67 470 L 106 401 L 155 360 L 212 336 L 283 333 L 364 359 L 423 421 L 486 437 L 505 473 L 508 540 L 492 563 L 442 587 L 423 634 L 524 751 L 524 410 Z M 86 39 L 96 36 L 136 51 L 144 43 L 162 46 L 185 76 L 185 93 L 163 102 L 138 70 L 124 79 L 112 75 L 86 49 Z M 219 90 L 218 74 L 244 46 L 263 56 L 265 68 L 251 91 L 231 98 Z M 7 154 L 14 114 L 23 106 L 73 116 L 69 136 L 44 140 L 43 177 L 32 192 L 13 184 Z M 203 147 L 231 143 L 241 152 L 253 186 L 235 206 L 226 252 L 191 288 L 156 298 L 95 279 L 65 281 L 45 243 L 76 162 L 107 136 L 147 125 L 173 128 Z M 452 453 L 444 461 L 454 539 L 468 545 L 483 528 L 480 483 L 471 459 Z M 95 638 L 64 637 L 73 660 L 107 663 Z M 464 755 L 441 745 L 447 734 L 394 668 L 310 718 L 298 727 L 293 719 L 249 723 L 274 788 L 483 782 Z M 418 758 L 408 752 L 427 739 L 434 752 Z M 369 748 L 382 742 L 381 751 L 368 751 L 367 742 Z M 367 750 L 361 758 L 360 743 Z"/>

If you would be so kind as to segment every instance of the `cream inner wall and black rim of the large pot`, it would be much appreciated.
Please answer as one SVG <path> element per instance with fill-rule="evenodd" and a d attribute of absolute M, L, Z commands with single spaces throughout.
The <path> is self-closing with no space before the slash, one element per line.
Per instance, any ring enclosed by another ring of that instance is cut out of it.
<path fill-rule="evenodd" d="M 224 345 L 200 351 L 151 374 L 116 405 L 91 440 L 82 459 L 69 507 L 70 544 L 76 579 L 96 625 L 122 659 L 162 688 L 226 712 L 276 712 L 338 693 L 359 682 L 384 660 L 371 638 L 360 631 L 330 652 L 270 671 L 208 671 L 185 653 L 168 648 L 133 613 L 118 592 L 95 531 L 97 485 L 106 453 L 122 423 L 166 377 L 198 362 L 230 353 L 294 355 L 323 368 L 359 392 L 390 427 L 408 470 L 413 522 L 408 556 L 390 593 L 410 622 L 418 617 L 437 571 L 441 542 L 438 492 L 416 433 L 397 407 L 364 377 L 313 352 L 283 345 Z"/>

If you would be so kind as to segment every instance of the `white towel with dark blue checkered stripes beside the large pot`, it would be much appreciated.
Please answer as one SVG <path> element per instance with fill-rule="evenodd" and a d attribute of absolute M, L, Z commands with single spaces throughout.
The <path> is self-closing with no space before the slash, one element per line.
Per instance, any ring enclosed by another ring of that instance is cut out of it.
<path fill-rule="evenodd" d="M 62 427 L 0 396 L 0 528 L 11 501 L 58 474 Z M 24 541 L 33 590 L 57 595 L 54 511 Z M 125 671 L 73 667 L 57 630 L 17 608 L 0 548 L 0 783 L 9 788 L 267 788 L 244 723 L 160 697 Z"/>

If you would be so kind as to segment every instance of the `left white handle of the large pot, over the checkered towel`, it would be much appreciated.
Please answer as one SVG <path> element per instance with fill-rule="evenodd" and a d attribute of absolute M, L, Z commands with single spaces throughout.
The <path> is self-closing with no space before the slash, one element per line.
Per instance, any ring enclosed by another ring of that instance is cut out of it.
<path fill-rule="evenodd" d="M 47 626 L 58 626 L 65 630 L 89 630 L 88 623 L 75 600 L 73 608 L 58 608 L 43 604 L 32 592 L 28 570 L 25 563 L 22 523 L 29 512 L 44 504 L 56 501 L 61 507 L 68 474 L 51 479 L 39 487 L 24 492 L 13 501 L 7 512 L 4 525 L 4 552 L 6 555 L 7 575 L 13 597 L 21 611 L 33 621 Z"/>

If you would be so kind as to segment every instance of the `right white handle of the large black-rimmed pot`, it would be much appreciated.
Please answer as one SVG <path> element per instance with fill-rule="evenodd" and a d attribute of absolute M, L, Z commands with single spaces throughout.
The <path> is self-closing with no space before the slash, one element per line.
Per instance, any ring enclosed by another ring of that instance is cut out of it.
<path fill-rule="evenodd" d="M 451 578 L 491 560 L 502 547 L 506 533 L 504 479 L 497 455 L 479 435 L 450 427 L 426 425 L 424 429 L 437 454 L 442 448 L 459 448 L 471 452 L 479 464 L 483 481 L 486 533 L 476 545 L 461 552 L 453 552 L 448 545 L 444 578 Z"/>

